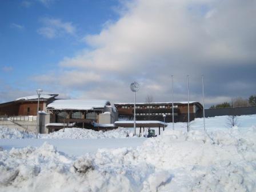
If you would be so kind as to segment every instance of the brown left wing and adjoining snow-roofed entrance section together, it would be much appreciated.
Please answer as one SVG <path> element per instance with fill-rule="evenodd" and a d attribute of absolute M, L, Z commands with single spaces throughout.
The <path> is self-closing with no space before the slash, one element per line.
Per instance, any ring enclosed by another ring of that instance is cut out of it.
<path fill-rule="evenodd" d="M 42 94 L 39 98 L 39 133 L 74 126 L 111 129 L 118 120 L 117 110 L 107 100 L 57 99 L 57 96 Z M 35 132 L 37 105 L 37 95 L 0 103 L 0 125 Z"/>

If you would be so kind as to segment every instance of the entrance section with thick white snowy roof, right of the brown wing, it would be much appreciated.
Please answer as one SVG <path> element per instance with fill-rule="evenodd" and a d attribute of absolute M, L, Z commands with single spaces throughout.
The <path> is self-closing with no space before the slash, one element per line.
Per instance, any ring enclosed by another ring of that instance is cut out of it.
<path fill-rule="evenodd" d="M 94 129 L 94 125 L 111 127 L 109 124 L 118 119 L 117 110 L 107 100 L 57 99 L 47 105 L 47 111 L 51 114 L 51 123 L 47 125 L 50 132 L 61 129 L 63 123 L 90 129 Z"/>

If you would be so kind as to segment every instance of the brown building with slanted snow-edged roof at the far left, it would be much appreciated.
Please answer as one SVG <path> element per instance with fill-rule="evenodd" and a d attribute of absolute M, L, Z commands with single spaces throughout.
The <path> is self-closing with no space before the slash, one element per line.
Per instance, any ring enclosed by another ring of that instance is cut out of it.
<path fill-rule="evenodd" d="M 58 94 L 41 94 L 39 98 L 39 133 L 48 133 L 45 124 L 50 121 L 46 106 L 53 102 Z M 18 128 L 22 131 L 36 132 L 38 95 L 18 98 L 0 103 L 0 125 Z"/>

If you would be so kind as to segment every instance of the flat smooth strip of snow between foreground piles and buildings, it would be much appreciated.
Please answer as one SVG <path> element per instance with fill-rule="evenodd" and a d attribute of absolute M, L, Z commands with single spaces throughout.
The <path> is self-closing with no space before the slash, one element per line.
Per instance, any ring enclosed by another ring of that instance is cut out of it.
<path fill-rule="evenodd" d="M 10 151 L 13 147 L 40 147 L 47 142 L 54 145 L 59 152 L 67 155 L 81 156 L 85 153 L 96 152 L 98 149 L 115 149 L 118 147 L 137 147 L 146 138 L 102 138 L 102 139 L 0 139 L 0 146 Z"/>

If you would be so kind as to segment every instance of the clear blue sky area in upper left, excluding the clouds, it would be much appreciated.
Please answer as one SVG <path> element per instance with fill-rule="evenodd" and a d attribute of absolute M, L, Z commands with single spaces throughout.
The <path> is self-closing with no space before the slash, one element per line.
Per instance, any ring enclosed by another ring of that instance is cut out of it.
<path fill-rule="evenodd" d="M 63 57 L 71 57 L 85 48 L 82 39 L 86 34 L 99 33 L 105 22 L 118 18 L 115 11 L 118 3 L 114 0 L 1 1 L 0 81 L 13 88 L 34 89 L 36 85 L 29 77 L 47 73 Z M 75 32 L 47 38 L 38 32 L 44 26 L 43 19 L 71 23 Z"/>

